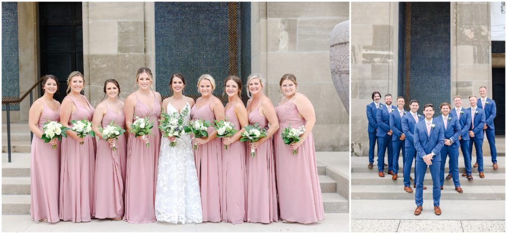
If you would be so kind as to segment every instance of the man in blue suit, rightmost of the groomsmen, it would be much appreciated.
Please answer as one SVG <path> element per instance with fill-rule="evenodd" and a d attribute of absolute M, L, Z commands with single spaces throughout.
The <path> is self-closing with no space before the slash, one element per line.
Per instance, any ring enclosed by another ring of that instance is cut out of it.
<path fill-rule="evenodd" d="M 484 114 L 486 114 L 486 122 L 484 123 L 483 129 L 486 131 L 486 137 L 488 138 L 489 149 L 491 151 L 491 162 L 493 162 L 493 169 L 498 169 L 498 165 L 496 164 L 496 146 L 495 146 L 495 124 L 494 119 L 496 117 L 496 104 L 495 101 L 489 99 L 487 97 L 488 90 L 485 86 L 481 86 L 479 88 L 479 94 L 481 95 L 481 99 L 477 103 L 477 107 L 484 110 Z M 478 164 L 474 164 L 474 167 L 477 167 Z"/>

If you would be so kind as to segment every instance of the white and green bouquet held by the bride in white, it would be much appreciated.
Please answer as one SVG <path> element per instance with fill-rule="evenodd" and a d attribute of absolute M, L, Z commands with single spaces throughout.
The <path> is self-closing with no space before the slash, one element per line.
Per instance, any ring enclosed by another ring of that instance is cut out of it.
<path fill-rule="evenodd" d="M 189 112 L 189 108 L 185 107 L 185 109 L 182 111 L 181 114 L 178 114 L 177 112 L 172 113 L 171 115 L 165 113 L 162 111 L 160 116 L 164 117 L 164 119 L 159 119 L 159 129 L 164 135 L 162 137 L 167 136 L 174 136 L 176 138 L 179 138 L 180 136 L 185 133 L 185 126 L 183 126 L 184 116 L 187 116 Z M 175 147 L 176 142 L 169 143 L 169 146 Z"/>

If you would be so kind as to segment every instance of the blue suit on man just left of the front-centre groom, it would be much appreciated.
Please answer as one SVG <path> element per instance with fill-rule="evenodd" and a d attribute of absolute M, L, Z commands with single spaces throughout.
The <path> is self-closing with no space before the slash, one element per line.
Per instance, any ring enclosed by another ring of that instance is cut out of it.
<path fill-rule="evenodd" d="M 422 115 L 417 115 L 419 121 L 423 121 L 424 117 Z M 414 127 L 415 127 L 415 118 L 412 116 L 411 112 L 408 112 L 402 118 L 402 129 L 403 133 L 405 133 L 405 163 L 403 164 L 403 183 L 406 187 L 410 187 L 410 169 L 412 168 L 412 162 L 414 161 L 414 157 L 416 155 L 416 151 L 414 148 Z M 414 174 L 416 173 L 416 168 L 414 167 Z M 414 176 L 414 185 L 417 182 L 417 177 Z"/>

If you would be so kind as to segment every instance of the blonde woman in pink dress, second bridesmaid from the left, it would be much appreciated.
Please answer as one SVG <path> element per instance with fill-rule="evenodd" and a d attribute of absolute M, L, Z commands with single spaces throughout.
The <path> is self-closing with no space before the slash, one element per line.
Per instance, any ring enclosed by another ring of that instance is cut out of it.
<path fill-rule="evenodd" d="M 70 120 L 91 121 L 95 110 L 84 95 L 83 74 L 70 73 L 67 79 L 67 97 L 63 99 L 60 120 L 71 128 Z M 88 222 L 93 214 L 93 176 L 95 174 L 95 138 L 80 138 L 73 130 L 62 139 L 60 170 L 60 219 Z M 80 143 L 84 143 L 80 145 Z"/>

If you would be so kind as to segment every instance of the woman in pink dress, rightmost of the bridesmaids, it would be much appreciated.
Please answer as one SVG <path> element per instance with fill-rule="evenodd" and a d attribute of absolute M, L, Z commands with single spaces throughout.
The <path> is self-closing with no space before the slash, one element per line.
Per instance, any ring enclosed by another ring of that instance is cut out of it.
<path fill-rule="evenodd" d="M 284 97 L 275 108 L 280 129 L 274 137 L 280 218 L 283 222 L 316 222 L 323 219 L 324 209 L 312 135 L 315 111 L 310 100 L 297 92 L 293 74 L 282 76 L 280 89 Z M 280 134 L 289 124 L 291 128 L 304 125 L 305 132 L 301 141 L 285 145 Z M 293 155 L 293 150 L 298 154 Z"/>

